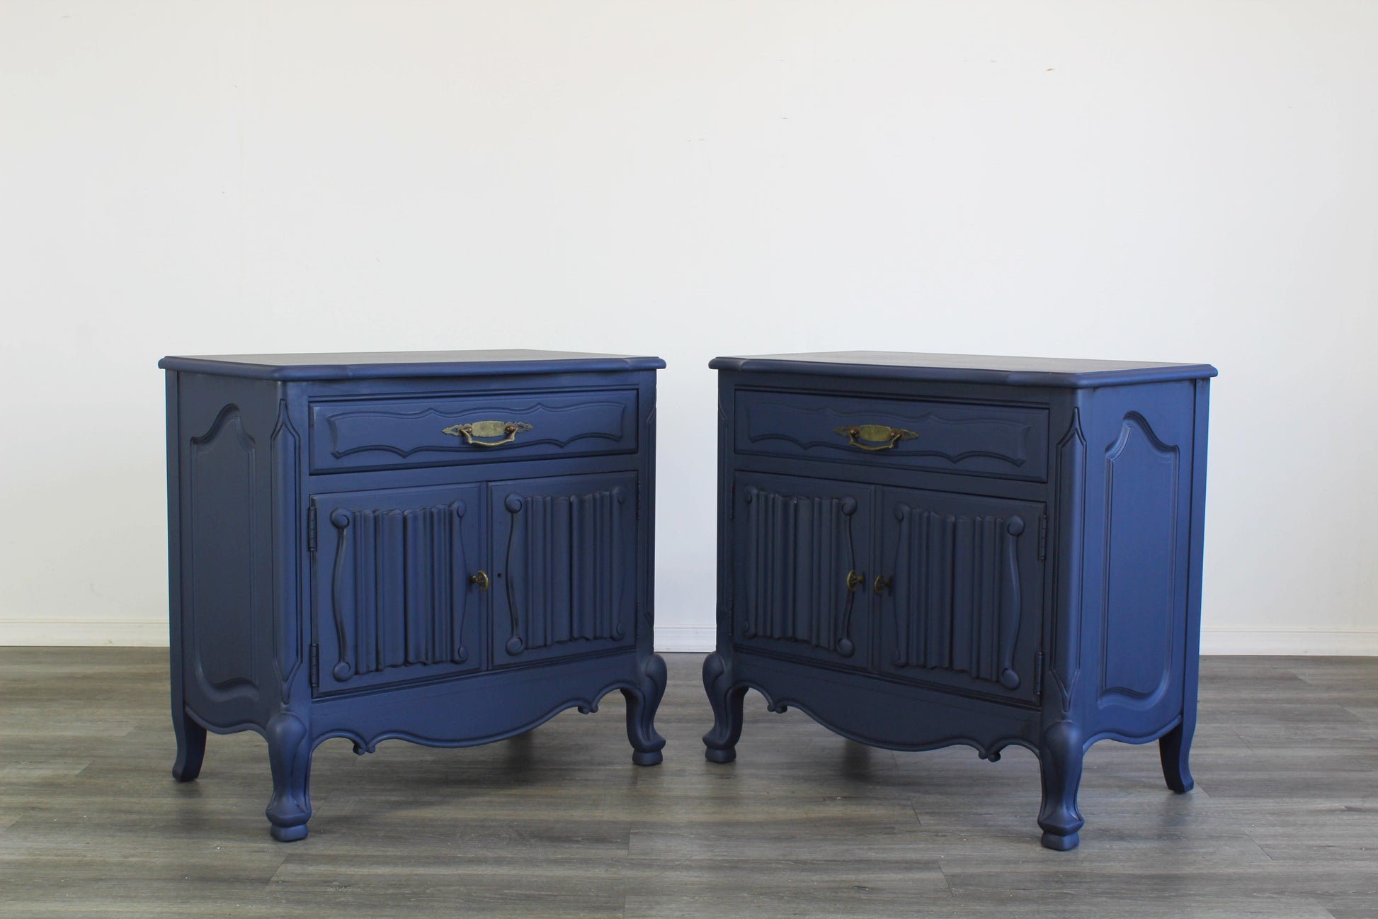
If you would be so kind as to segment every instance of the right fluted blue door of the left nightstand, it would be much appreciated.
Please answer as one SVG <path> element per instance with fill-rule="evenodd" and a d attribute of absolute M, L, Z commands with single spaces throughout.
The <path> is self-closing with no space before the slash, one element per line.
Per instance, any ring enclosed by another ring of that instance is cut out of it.
<path fill-rule="evenodd" d="M 495 664 L 635 644 L 637 473 L 489 488 Z"/>

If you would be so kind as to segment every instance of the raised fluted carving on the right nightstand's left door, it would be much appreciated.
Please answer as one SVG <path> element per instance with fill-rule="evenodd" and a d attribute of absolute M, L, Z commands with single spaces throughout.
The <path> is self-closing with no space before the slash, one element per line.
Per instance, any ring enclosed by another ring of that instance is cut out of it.
<path fill-rule="evenodd" d="M 744 490 L 741 635 L 852 657 L 857 501 Z"/>

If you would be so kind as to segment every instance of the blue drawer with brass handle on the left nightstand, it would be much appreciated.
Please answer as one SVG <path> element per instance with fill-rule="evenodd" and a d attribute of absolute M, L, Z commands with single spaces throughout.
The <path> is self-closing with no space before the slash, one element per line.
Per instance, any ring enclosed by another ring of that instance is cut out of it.
<path fill-rule="evenodd" d="M 637 451 L 637 391 L 311 402 L 311 472 Z"/>

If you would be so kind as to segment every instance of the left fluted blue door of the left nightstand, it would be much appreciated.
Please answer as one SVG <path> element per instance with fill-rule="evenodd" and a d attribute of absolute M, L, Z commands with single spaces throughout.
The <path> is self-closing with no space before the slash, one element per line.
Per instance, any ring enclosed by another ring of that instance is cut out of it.
<path fill-rule="evenodd" d="M 449 486 L 311 500 L 321 693 L 481 666 L 480 498 Z"/>

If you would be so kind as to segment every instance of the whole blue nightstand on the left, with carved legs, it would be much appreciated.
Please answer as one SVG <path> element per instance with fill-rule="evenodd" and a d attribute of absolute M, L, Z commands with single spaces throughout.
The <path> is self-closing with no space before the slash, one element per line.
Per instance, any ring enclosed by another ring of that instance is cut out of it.
<path fill-rule="evenodd" d="M 390 738 L 485 744 L 595 711 L 613 690 L 627 697 L 633 762 L 660 762 L 660 359 L 161 366 L 179 781 L 200 773 L 208 730 L 258 731 L 271 833 L 302 839 L 311 751 L 327 738 L 361 753 Z M 442 432 L 481 421 L 511 437 Z"/>

